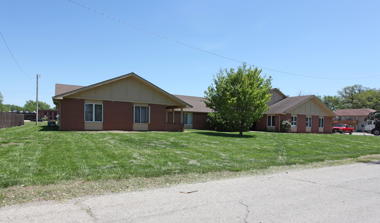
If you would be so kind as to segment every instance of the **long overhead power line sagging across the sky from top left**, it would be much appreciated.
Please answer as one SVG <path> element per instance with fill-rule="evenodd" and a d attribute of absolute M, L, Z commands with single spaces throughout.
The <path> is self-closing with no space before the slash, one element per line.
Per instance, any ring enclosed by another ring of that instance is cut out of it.
<path fill-rule="evenodd" d="M 86 6 L 81 5 L 81 4 L 78 4 L 78 3 L 73 2 L 73 1 L 71 1 L 71 0 L 68 0 L 68 1 L 69 1 L 69 2 L 72 2 L 72 3 L 76 4 L 76 5 L 82 6 L 82 7 L 84 7 L 84 8 L 87 8 Z M 87 9 L 90 9 L 90 8 L 87 8 Z M 193 46 L 190 46 L 190 45 L 184 44 L 184 43 L 182 43 L 182 42 L 175 41 L 175 40 L 173 40 L 173 39 L 166 38 L 165 36 L 161 36 L 161 35 L 158 35 L 158 34 L 156 34 L 156 33 L 152 33 L 151 31 L 144 30 L 144 29 L 139 28 L 139 27 L 137 27 L 137 26 L 131 25 L 131 24 L 127 23 L 127 22 L 123 22 L 122 20 L 115 19 L 114 17 L 107 16 L 106 14 L 100 13 L 100 12 L 98 12 L 98 11 L 96 11 L 96 10 L 93 10 L 93 9 L 90 9 L 90 10 L 91 10 L 91 11 L 94 11 L 95 13 L 99 13 L 99 14 L 101 14 L 101 15 L 103 15 L 103 16 L 106 16 L 106 17 L 109 17 L 109 18 L 111 18 L 111 19 L 114 19 L 114 20 L 116 20 L 116 21 L 119 21 L 119 22 L 122 22 L 122 23 L 124 23 L 124 24 L 130 25 L 131 27 L 138 28 L 139 30 L 146 31 L 146 32 L 148 32 L 148 33 L 150 33 L 150 34 L 153 34 L 153 35 L 156 35 L 156 36 L 160 36 L 160 37 L 162 37 L 162 38 L 164 38 L 164 39 L 167 39 L 167 40 L 170 40 L 170 41 L 176 42 L 176 43 L 178 43 L 178 44 L 182 44 L 182 45 L 184 45 L 184 46 L 187 46 L 187 47 L 190 47 L 190 48 L 193 48 L 193 49 L 196 49 L 196 50 L 200 50 L 200 51 L 205 52 L 205 53 L 210 53 L 210 54 L 212 54 L 212 55 L 215 55 L 215 56 L 217 56 L 217 57 L 222 57 L 222 58 L 225 58 L 225 59 L 227 59 L 227 60 L 232 60 L 232 61 L 236 61 L 236 62 L 239 62 L 239 63 L 243 63 L 242 61 L 234 60 L 234 59 L 231 59 L 231 58 L 228 58 L 228 57 L 223 57 L 223 56 L 221 56 L 221 55 L 218 55 L 218 54 L 215 54 L 215 53 L 211 53 L 211 52 L 208 52 L 208 51 L 206 51 L 206 50 L 202 50 L 202 49 L 199 49 L 199 48 L 196 48 L 196 47 L 193 47 Z M 246 63 L 246 64 L 255 67 L 255 65 L 253 65 L 253 64 L 249 64 L 249 63 Z M 262 68 L 262 69 L 266 69 L 266 70 L 269 70 L 269 71 L 280 72 L 280 73 L 283 73 L 283 74 L 291 74 L 291 75 L 296 75 L 296 76 L 301 76 L 301 77 L 311 77 L 311 78 L 318 78 L 318 79 L 330 79 L 330 80 L 353 80 L 353 79 L 370 78 L 370 77 L 357 77 L 357 78 L 328 78 L 328 77 L 313 77 L 313 76 L 307 76 L 307 75 L 301 75 L 301 74 L 292 74 L 292 73 L 288 73 L 288 72 L 284 72 L 284 71 L 277 71 L 277 70 L 274 70 L 274 69 L 264 68 L 264 67 L 260 67 L 260 66 L 256 66 L 256 67 L 258 67 L 258 68 Z M 378 76 L 380 76 L 380 75 L 375 75 L 375 76 L 371 76 L 371 77 L 378 77 Z"/>

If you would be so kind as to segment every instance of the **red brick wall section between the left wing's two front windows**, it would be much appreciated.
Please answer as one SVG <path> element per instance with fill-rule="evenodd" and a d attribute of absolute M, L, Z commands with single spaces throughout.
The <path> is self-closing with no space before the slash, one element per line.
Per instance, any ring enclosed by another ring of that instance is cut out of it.
<path fill-rule="evenodd" d="M 131 102 L 103 101 L 103 130 L 133 130 Z"/>

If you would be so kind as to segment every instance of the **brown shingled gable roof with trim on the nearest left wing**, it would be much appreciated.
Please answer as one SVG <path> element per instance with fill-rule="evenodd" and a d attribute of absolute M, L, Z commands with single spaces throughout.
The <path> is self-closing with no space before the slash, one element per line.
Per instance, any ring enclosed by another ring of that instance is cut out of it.
<path fill-rule="evenodd" d="M 88 90 L 90 88 L 95 88 L 97 86 L 105 85 L 107 83 L 114 82 L 116 80 L 120 80 L 120 79 L 123 79 L 123 78 L 126 78 L 126 77 L 131 77 L 131 76 L 133 76 L 133 77 L 137 78 L 138 80 L 140 80 L 141 82 L 146 83 L 147 85 L 153 87 L 155 90 L 158 90 L 159 92 L 161 92 L 164 95 L 170 97 L 174 101 L 179 102 L 179 104 L 185 105 L 186 108 L 192 108 L 193 107 L 192 105 L 190 105 L 190 104 L 182 101 L 181 99 L 173 96 L 172 94 L 169 94 L 168 92 L 162 90 L 161 88 L 157 87 L 156 85 L 150 83 L 149 81 L 143 79 L 142 77 L 140 77 L 139 75 L 137 75 L 137 74 L 135 74 L 133 72 L 131 72 L 129 74 L 122 75 L 120 77 L 115 77 L 113 79 L 105 80 L 103 82 L 99 82 L 99 83 L 96 83 L 96 84 L 93 84 L 93 85 L 89 85 L 89 86 L 78 86 L 78 85 L 58 85 L 57 86 L 56 85 L 55 86 L 56 87 L 56 95 L 53 96 L 52 99 L 53 99 L 53 102 L 54 102 L 55 99 L 63 99 L 63 97 L 69 96 L 70 94 L 75 94 L 75 93 L 78 93 L 80 91 L 86 91 L 86 90 Z M 67 91 L 67 90 L 69 90 L 69 91 Z"/>

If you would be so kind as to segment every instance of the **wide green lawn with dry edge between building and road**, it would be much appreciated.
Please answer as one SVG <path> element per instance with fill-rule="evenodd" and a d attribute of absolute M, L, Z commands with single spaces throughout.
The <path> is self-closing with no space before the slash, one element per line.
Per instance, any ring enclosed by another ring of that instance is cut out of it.
<path fill-rule="evenodd" d="M 59 132 L 38 125 L 0 129 L 0 206 L 380 154 L 380 137 L 373 136 Z"/>

